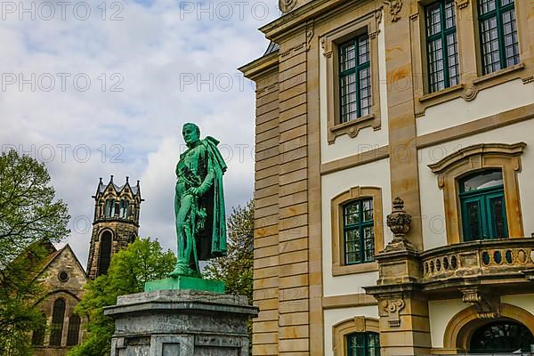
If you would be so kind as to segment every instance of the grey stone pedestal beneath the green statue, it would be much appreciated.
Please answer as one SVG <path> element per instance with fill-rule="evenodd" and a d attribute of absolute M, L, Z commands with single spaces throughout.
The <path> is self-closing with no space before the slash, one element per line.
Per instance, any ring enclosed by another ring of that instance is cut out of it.
<path fill-rule="evenodd" d="M 111 356 L 247 356 L 245 296 L 196 290 L 123 295 L 104 311 L 115 319 Z"/>

